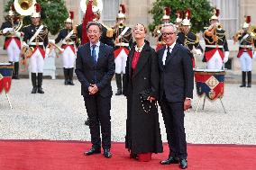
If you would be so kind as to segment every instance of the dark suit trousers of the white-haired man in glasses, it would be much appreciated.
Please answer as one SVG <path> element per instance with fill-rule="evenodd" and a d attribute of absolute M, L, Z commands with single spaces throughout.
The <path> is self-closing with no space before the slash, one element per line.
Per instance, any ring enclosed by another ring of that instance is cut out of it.
<path fill-rule="evenodd" d="M 187 159 L 183 104 L 183 102 L 170 103 L 165 96 L 160 102 L 169 144 L 169 157 L 179 159 Z"/>

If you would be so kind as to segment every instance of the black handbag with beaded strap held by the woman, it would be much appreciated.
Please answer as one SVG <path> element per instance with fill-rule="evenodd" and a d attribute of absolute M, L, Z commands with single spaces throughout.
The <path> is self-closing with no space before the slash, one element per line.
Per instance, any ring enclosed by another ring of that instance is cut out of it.
<path fill-rule="evenodd" d="M 151 108 L 155 107 L 158 108 L 157 101 L 149 101 L 148 98 L 151 96 L 151 89 L 143 90 L 140 93 L 141 102 L 142 102 L 142 109 L 144 112 L 151 112 Z M 149 107 L 146 107 L 147 103 L 149 103 Z"/>

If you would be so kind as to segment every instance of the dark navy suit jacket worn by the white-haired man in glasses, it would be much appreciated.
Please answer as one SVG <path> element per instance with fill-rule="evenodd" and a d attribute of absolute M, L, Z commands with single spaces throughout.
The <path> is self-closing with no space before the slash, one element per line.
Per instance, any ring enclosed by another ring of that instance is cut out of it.
<path fill-rule="evenodd" d="M 157 54 L 160 66 L 160 100 L 163 93 L 169 102 L 184 102 L 186 97 L 193 98 L 194 74 L 191 58 L 192 53 L 176 42 L 170 57 L 162 64 L 164 50 Z"/>

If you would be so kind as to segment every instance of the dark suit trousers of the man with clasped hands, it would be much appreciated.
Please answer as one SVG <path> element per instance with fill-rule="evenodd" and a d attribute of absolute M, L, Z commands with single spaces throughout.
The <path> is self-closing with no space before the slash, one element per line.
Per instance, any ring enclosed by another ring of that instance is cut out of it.
<path fill-rule="evenodd" d="M 100 130 L 102 134 L 102 147 L 111 147 L 111 96 L 102 97 L 100 94 L 84 97 L 89 118 L 91 142 L 94 148 L 101 147 Z"/>

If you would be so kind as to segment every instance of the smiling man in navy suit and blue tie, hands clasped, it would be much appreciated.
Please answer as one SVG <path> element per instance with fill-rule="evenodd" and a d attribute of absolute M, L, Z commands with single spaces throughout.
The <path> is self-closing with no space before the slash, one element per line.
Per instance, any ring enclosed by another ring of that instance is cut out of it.
<path fill-rule="evenodd" d="M 101 153 L 101 128 L 104 157 L 110 158 L 114 52 L 112 47 L 99 41 L 101 33 L 100 23 L 88 22 L 87 36 L 90 41 L 78 48 L 76 74 L 81 83 L 91 133 L 92 148 L 85 152 L 85 155 Z"/>

